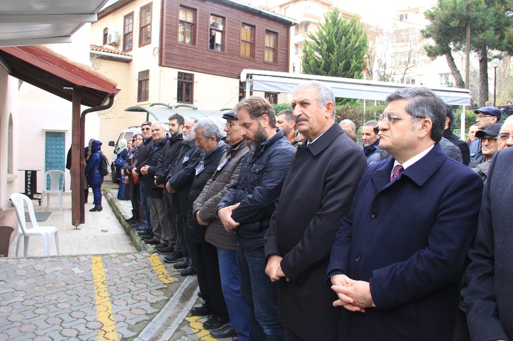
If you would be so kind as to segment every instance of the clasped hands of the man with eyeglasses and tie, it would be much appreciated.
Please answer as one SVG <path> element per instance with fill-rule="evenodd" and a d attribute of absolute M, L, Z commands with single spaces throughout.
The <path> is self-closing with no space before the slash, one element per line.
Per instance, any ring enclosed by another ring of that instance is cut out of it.
<path fill-rule="evenodd" d="M 373 305 L 370 294 L 370 283 L 351 280 L 345 274 L 336 274 L 331 278 L 331 289 L 339 299 L 333 302 L 334 307 L 344 307 L 349 311 L 365 312 L 365 308 Z"/>

